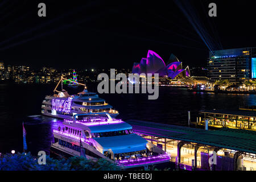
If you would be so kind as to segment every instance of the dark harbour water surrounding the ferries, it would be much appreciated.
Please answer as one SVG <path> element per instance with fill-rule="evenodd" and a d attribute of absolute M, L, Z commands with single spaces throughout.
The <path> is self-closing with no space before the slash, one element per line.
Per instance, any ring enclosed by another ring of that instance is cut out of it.
<path fill-rule="evenodd" d="M 0 152 L 22 152 L 22 122 L 27 131 L 28 151 L 49 150 L 52 129 L 60 119 L 40 115 L 46 94 L 52 94 L 55 85 L 0 84 Z M 96 85 L 88 86 L 95 92 Z M 81 91 L 81 90 L 79 90 Z M 75 92 L 73 90 L 73 92 Z M 183 88 L 159 88 L 158 100 L 148 100 L 146 94 L 100 94 L 119 111 L 119 118 L 187 125 L 187 111 L 192 121 L 201 109 L 238 109 L 239 105 L 253 105 L 255 95 L 214 94 L 188 92 Z"/>

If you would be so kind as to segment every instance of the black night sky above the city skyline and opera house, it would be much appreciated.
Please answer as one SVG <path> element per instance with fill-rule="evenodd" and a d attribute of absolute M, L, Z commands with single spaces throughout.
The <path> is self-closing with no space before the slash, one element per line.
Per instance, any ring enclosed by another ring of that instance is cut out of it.
<path fill-rule="evenodd" d="M 38 17 L 38 3 L 47 17 Z M 224 49 L 255 47 L 255 1 L 184 2 Z M 208 16 L 210 2 L 217 17 Z M 187 8 L 188 8 L 187 7 Z M 218 46 L 216 46 L 218 47 Z M 209 49 L 170 1 L 0 1 L 0 60 L 55 68 L 132 68 L 147 50 L 205 66 Z"/>

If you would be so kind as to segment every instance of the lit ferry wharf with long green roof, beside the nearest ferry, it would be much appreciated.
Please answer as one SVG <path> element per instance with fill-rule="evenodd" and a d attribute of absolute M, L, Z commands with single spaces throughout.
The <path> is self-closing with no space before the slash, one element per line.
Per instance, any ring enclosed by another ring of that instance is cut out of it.
<path fill-rule="evenodd" d="M 256 131 L 222 128 L 204 130 L 129 119 L 135 133 L 162 147 L 171 162 L 188 170 L 254 171 Z M 217 163 L 209 165 L 216 152 Z"/>

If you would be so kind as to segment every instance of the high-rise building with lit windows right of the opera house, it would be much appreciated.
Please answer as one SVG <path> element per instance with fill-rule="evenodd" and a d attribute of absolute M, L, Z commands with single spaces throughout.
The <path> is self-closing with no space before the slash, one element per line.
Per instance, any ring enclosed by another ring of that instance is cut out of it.
<path fill-rule="evenodd" d="M 243 82 L 256 78 L 256 48 L 225 49 L 210 52 L 207 61 L 210 82 Z"/>

